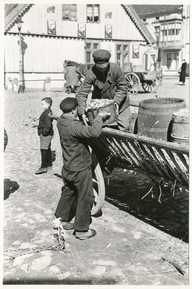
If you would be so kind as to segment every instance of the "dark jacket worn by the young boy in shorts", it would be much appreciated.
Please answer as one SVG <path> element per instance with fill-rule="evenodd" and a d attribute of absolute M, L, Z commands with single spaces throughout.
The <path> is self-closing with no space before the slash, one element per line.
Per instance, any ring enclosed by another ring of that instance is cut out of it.
<path fill-rule="evenodd" d="M 42 136 L 53 136 L 53 119 L 51 119 L 48 114 L 52 112 L 51 108 L 47 108 L 39 118 L 38 135 Z"/>

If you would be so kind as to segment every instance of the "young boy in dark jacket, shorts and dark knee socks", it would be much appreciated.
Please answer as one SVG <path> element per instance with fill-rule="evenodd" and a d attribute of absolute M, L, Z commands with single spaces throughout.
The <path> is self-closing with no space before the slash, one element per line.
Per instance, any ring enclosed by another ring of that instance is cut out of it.
<path fill-rule="evenodd" d="M 44 112 L 39 118 L 39 125 L 37 127 L 38 136 L 40 136 L 41 167 L 35 172 L 36 175 L 52 170 L 51 140 L 53 138 L 53 119 L 48 116 L 52 112 L 51 105 L 52 99 L 50 97 L 42 99 L 41 107 Z"/>

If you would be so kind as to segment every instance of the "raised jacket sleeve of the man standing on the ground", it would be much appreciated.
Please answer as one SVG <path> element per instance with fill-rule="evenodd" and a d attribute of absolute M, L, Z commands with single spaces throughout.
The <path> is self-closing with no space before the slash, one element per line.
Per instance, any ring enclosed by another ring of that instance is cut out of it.
<path fill-rule="evenodd" d="M 79 138 L 98 138 L 101 134 L 103 120 L 100 115 L 97 115 L 93 121 L 93 125 L 87 126 L 82 122 L 75 125 L 75 136 Z"/>

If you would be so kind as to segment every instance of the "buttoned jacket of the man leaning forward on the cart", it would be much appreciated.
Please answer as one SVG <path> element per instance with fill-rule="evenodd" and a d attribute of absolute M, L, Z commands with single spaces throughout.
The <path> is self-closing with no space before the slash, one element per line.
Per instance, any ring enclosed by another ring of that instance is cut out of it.
<path fill-rule="evenodd" d="M 129 106 L 130 99 L 127 95 L 128 85 L 125 75 L 118 64 L 113 62 L 109 64 L 110 68 L 104 85 L 98 79 L 96 65 L 87 71 L 86 78 L 75 96 L 78 101 L 79 115 L 85 113 L 86 100 L 92 85 L 94 87 L 92 99 L 113 99 L 119 105 L 120 113 Z"/>

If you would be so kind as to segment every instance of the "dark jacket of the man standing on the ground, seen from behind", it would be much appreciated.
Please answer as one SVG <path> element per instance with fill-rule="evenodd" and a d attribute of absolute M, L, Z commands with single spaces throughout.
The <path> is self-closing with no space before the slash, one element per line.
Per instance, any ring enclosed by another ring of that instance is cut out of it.
<path fill-rule="evenodd" d="M 57 121 L 63 152 L 64 168 L 83 171 L 91 166 L 91 155 L 86 138 L 98 138 L 102 129 L 102 117 L 97 115 L 93 125 L 84 125 L 71 115 L 62 114 Z"/>

